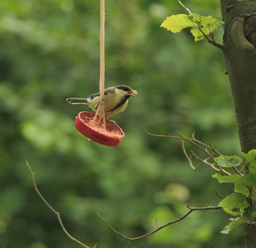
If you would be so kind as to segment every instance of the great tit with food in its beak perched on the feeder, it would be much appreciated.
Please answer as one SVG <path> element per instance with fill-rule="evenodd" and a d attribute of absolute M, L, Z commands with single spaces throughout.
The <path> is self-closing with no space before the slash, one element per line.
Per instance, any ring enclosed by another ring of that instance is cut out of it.
<path fill-rule="evenodd" d="M 137 91 L 125 85 L 106 88 L 104 90 L 105 116 L 114 116 L 124 111 L 129 98 L 135 96 L 133 94 L 137 94 Z M 96 112 L 100 102 L 100 93 L 92 94 L 87 98 L 67 98 L 67 101 L 70 104 L 86 104 Z"/>

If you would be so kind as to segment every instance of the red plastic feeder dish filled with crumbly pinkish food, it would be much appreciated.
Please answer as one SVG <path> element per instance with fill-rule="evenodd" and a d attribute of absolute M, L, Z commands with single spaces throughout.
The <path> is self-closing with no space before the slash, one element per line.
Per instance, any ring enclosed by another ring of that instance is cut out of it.
<path fill-rule="evenodd" d="M 95 117 L 95 113 L 91 112 L 80 112 L 76 117 L 75 126 L 79 132 L 84 136 L 93 140 L 97 143 L 100 143 L 105 146 L 118 146 L 122 142 L 125 134 L 121 128 L 117 125 L 114 125 L 109 119 L 106 120 L 106 130 L 102 127 L 93 127 L 90 124 Z"/>

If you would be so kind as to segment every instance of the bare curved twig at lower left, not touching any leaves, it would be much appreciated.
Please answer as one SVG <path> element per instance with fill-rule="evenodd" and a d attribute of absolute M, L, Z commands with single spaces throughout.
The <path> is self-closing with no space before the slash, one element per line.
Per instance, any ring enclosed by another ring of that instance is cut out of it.
<path fill-rule="evenodd" d="M 66 234 L 71 240 L 77 242 L 77 243 L 80 244 L 81 246 L 86 247 L 86 248 L 90 248 L 89 246 L 83 244 L 81 241 L 75 239 L 75 237 L 71 236 L 71 234 L 68 233 L 68 231 L 66 230 L 65 226 L 64 226 L 63 223 L 62 223 L 61 216 L 60 216 L 60 212 L 58 212 L 58 211 L 56 211 L 55 209 L 53 209 L 53 207 L 46 201 L 45 197 L 43 197 L 42 194 L 40 193 L 40 191 L 38 190 L 37 185 L 36 185 L 36 180 L 35 180 L 35 172 L 33 172 L 33 171 L 31 170 L 31 167 L 29 166 L 29 163 L 28 163 L 27 159 L 26 159 L 26 164 L 27 164 L 28 170 L 29 170 L 30 173 L 31 173 L 32 180 L 33 180 L 33 186 L 34 186 L 34 188 L 35 188 L 35 191 L 37 192 L 37 195 L 41 198 L 41 200 L 45 203 L 45 205 L 46 205 L 52 212 L 54 212 L 54 213 L 57 215 L 58 222 L 60 223 L 60 226 L 61 226 L 61 229 L 63 230 L 63 232 L 65 232 L 65 234 Z M 96 247 L 96 245 L 95 245 L 94 247 Z"/>

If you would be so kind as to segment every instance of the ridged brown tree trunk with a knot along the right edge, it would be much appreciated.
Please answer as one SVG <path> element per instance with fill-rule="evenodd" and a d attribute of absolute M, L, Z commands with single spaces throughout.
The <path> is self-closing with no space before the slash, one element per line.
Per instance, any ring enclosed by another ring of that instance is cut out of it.
<path fill-rule="evenodd" d="M 220 0 L 223 52 L 242 152 L 256 149 L 256 0 Z M 256 247 L 256 226 L 244 225 L 247 248 Z"/>

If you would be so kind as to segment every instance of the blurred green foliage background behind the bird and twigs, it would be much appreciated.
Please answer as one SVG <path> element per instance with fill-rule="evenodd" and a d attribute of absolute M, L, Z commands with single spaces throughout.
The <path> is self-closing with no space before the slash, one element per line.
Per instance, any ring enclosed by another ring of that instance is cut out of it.
<path fill-rule="evenodd" d="M 192 12 L 221 19 L 218 0 L 184 0 Z M 210 168 L 193 171 L 178 140 L 144 130 L 196 137 L 226 155 L 240 146 L 223 53 L 189 30 L 160 28 L 186 13 L 178 1 L 106 1 L 105 86 L 138 94 L 114 120 L 125 132 L 118 147 L 88 141 L 73 125 L 84 105 L 67 97 L 99 91 L 99 1 L 0 2 L 0 247 L 81 247 L 62 232 L 33 189 L 28 159 L 43 196 L 66 229 L 88 246 L 124 247 L 94 214 L 127 236 L 140 236 L 187 212 L 186 204 L 217 205 L 229 185 Z M 215 34 L 221 43 L 223 28 Z M 187 144 L 187 148 L 194 147 Z M 200 155 L 200 153 L 198 153 Z M 220 234 L 229 216 L 194 212 L 131 247 L 243 247 L 243 229 Z"/>

